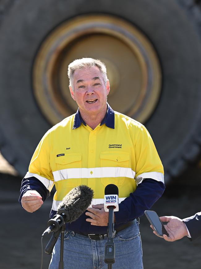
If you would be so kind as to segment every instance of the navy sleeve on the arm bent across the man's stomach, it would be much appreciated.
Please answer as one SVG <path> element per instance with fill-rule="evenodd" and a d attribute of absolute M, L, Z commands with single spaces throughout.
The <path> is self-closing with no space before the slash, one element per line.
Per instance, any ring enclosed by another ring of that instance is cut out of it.
<path fill-rule="evenodd" d="M 119 211 L 114 212 L 116 224 L 132 221 L 136 217 L 142 216 L 144 210 L 149 210 L 164 191 L 163 182 L 151 178 L 144 179 L 135 192 L 130 193 L 130 196 L 119 204 Z"/>

